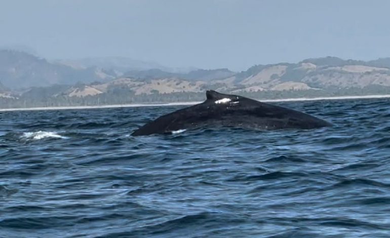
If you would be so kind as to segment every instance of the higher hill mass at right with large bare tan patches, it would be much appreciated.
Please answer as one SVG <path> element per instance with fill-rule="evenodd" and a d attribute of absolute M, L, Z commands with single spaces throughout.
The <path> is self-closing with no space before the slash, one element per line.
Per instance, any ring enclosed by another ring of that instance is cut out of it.
<path fill-rule="evenodd" d="M 390 64 L 386 63 L 325 57 L 295 64 L 256 65 L 234 78 L 242 86 L 240 91 L 390 87 Z"/>

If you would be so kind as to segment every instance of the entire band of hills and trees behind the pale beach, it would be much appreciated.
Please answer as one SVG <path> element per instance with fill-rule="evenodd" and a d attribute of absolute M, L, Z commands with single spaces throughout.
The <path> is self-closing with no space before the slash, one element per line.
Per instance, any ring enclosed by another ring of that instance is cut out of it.
<path fill-rule="evenodd" d="M 159 64 L 120 59 L 76 66 L 20 51 L 0 51 L 0 106 L 198 101 L 207 89 L 257 98 L 390 93 L 390 58 L 313 58 L 254 65 L 242 72 L 226 68 L 174 72 Z M 160 68 L 148 68 L 154 66 Z"/>

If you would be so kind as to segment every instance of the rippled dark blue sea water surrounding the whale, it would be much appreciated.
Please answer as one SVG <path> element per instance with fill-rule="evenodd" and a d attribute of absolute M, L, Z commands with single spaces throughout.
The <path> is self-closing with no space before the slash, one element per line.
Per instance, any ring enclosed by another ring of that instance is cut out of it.
<path fill-rule="evenodd" d="M 390 100 L 332 128 L 132 137 L 182 106 L 0 112 L 0 237 L 390 237 Z"/>

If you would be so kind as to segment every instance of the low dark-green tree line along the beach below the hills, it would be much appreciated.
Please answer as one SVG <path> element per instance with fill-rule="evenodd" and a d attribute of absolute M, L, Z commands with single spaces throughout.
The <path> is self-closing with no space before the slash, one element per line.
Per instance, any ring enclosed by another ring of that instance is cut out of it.
<path fill-rule="evenodd" d="M 229 93 L 229 92 L 225 92 Z M 239 95 L 253 99 L 283 99 L 283 98 L 314 98 L 331 96 L 363 96 L 363 95 L 382 95 L 390 94 L 390 87 L 369 86 L 366 88 L 337 89 L 329 88 L 326 90 L 296 90 L 296 91 L 258 91 L 241 92 Z M 29 108 L 29 107 L 61 107 L 61 106 L 98 106 L 113 104 L 132 104 L 132 103 L 169 103 L 169 102 L 190 102 L 204 101 L 205 92 L 176 92 L 161 94 L 153 92 L 152 94 L 135 95 L 131 90 L 112 90 L 107 93 L 85 96 L 69 97 L 66 95 L 49 96 L 45 93 L 35 93 L 22 95 L 18 98 L 0 97 L 0 108 Z"/>

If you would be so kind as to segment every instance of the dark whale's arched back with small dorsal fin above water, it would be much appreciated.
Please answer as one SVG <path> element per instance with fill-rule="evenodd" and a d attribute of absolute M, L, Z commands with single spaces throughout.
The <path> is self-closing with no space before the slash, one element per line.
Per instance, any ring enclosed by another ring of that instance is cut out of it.
<path fill-rule="evenodd" d="M 160 116 L 131 135 L 176 134 L 203 127 L 277 130 L 330 126 L 327 121 L 290 108 L 208 90 L 206 101 Z"/>

